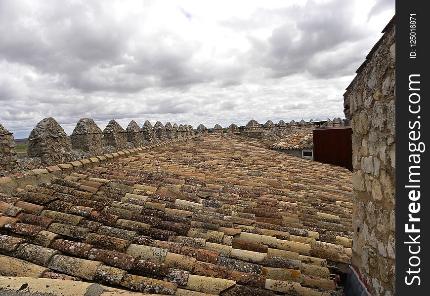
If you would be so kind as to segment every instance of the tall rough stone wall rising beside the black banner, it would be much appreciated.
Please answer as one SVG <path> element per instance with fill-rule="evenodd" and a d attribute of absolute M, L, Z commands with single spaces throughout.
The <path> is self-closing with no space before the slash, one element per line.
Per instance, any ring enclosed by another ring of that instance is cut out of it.
<path fill-rule="evenodd" d="M 395 20 L 344 94 L 352 121 L 352 265 L 374 296 L 395 294 Z"/>

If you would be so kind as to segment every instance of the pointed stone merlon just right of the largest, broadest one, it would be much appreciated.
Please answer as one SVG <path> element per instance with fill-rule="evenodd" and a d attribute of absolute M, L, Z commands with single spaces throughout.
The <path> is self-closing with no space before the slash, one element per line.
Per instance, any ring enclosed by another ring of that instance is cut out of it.
<path fill-rule="evenodd" d="M 91 118 L 79 119 L 70 139 L 73 149 L 89 152 L 93 156 L 103 154 L 103 132 Z"/>

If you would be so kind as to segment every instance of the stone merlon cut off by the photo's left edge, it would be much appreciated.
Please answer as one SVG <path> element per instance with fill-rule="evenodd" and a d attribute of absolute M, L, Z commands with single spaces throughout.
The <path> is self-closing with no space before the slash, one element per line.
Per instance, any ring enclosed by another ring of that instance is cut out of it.
<path fill-rule="evenodd" d="M 13 133 L 0 124 L 0 177 L 8 173 L 16 173 L 18 158 L 16 156 Z"/>

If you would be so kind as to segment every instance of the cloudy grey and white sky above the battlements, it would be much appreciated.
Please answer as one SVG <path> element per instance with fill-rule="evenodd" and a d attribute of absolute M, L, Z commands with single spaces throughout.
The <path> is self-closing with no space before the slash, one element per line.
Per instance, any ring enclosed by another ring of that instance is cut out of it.
<path fill-rule="evenodd" d="M 0 0 L 0 123 L 342 117 L 394 0 Z"/>

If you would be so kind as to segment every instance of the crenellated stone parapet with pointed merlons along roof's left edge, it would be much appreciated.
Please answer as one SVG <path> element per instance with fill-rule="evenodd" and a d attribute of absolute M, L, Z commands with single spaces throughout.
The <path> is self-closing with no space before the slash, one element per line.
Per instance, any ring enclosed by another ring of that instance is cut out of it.
<path fill-rule="evenodd" d="M 81 118 L 69 140 L 55 119 L 44 118 L 30 133 L 27 149 L 29 157 L 17 160 L 13 134 L 0 124 L 0 177 L 124 149 L 165 143 L 177 138 L 175 135 L 179 130 L 176 132 L 175 127 L 178 129 L 177 124 L 172 126 L 168 122 L 165 127 L 157 121 L 154 128 L 149 121 L 145 121 L 140 128 L 131 120 L 127 130 L 124 130 L 118 122 L 111 120 L 102 132 L 94 120 Z M 181 127 L 184 140 L 195 136 L 191 125 Z"/>

